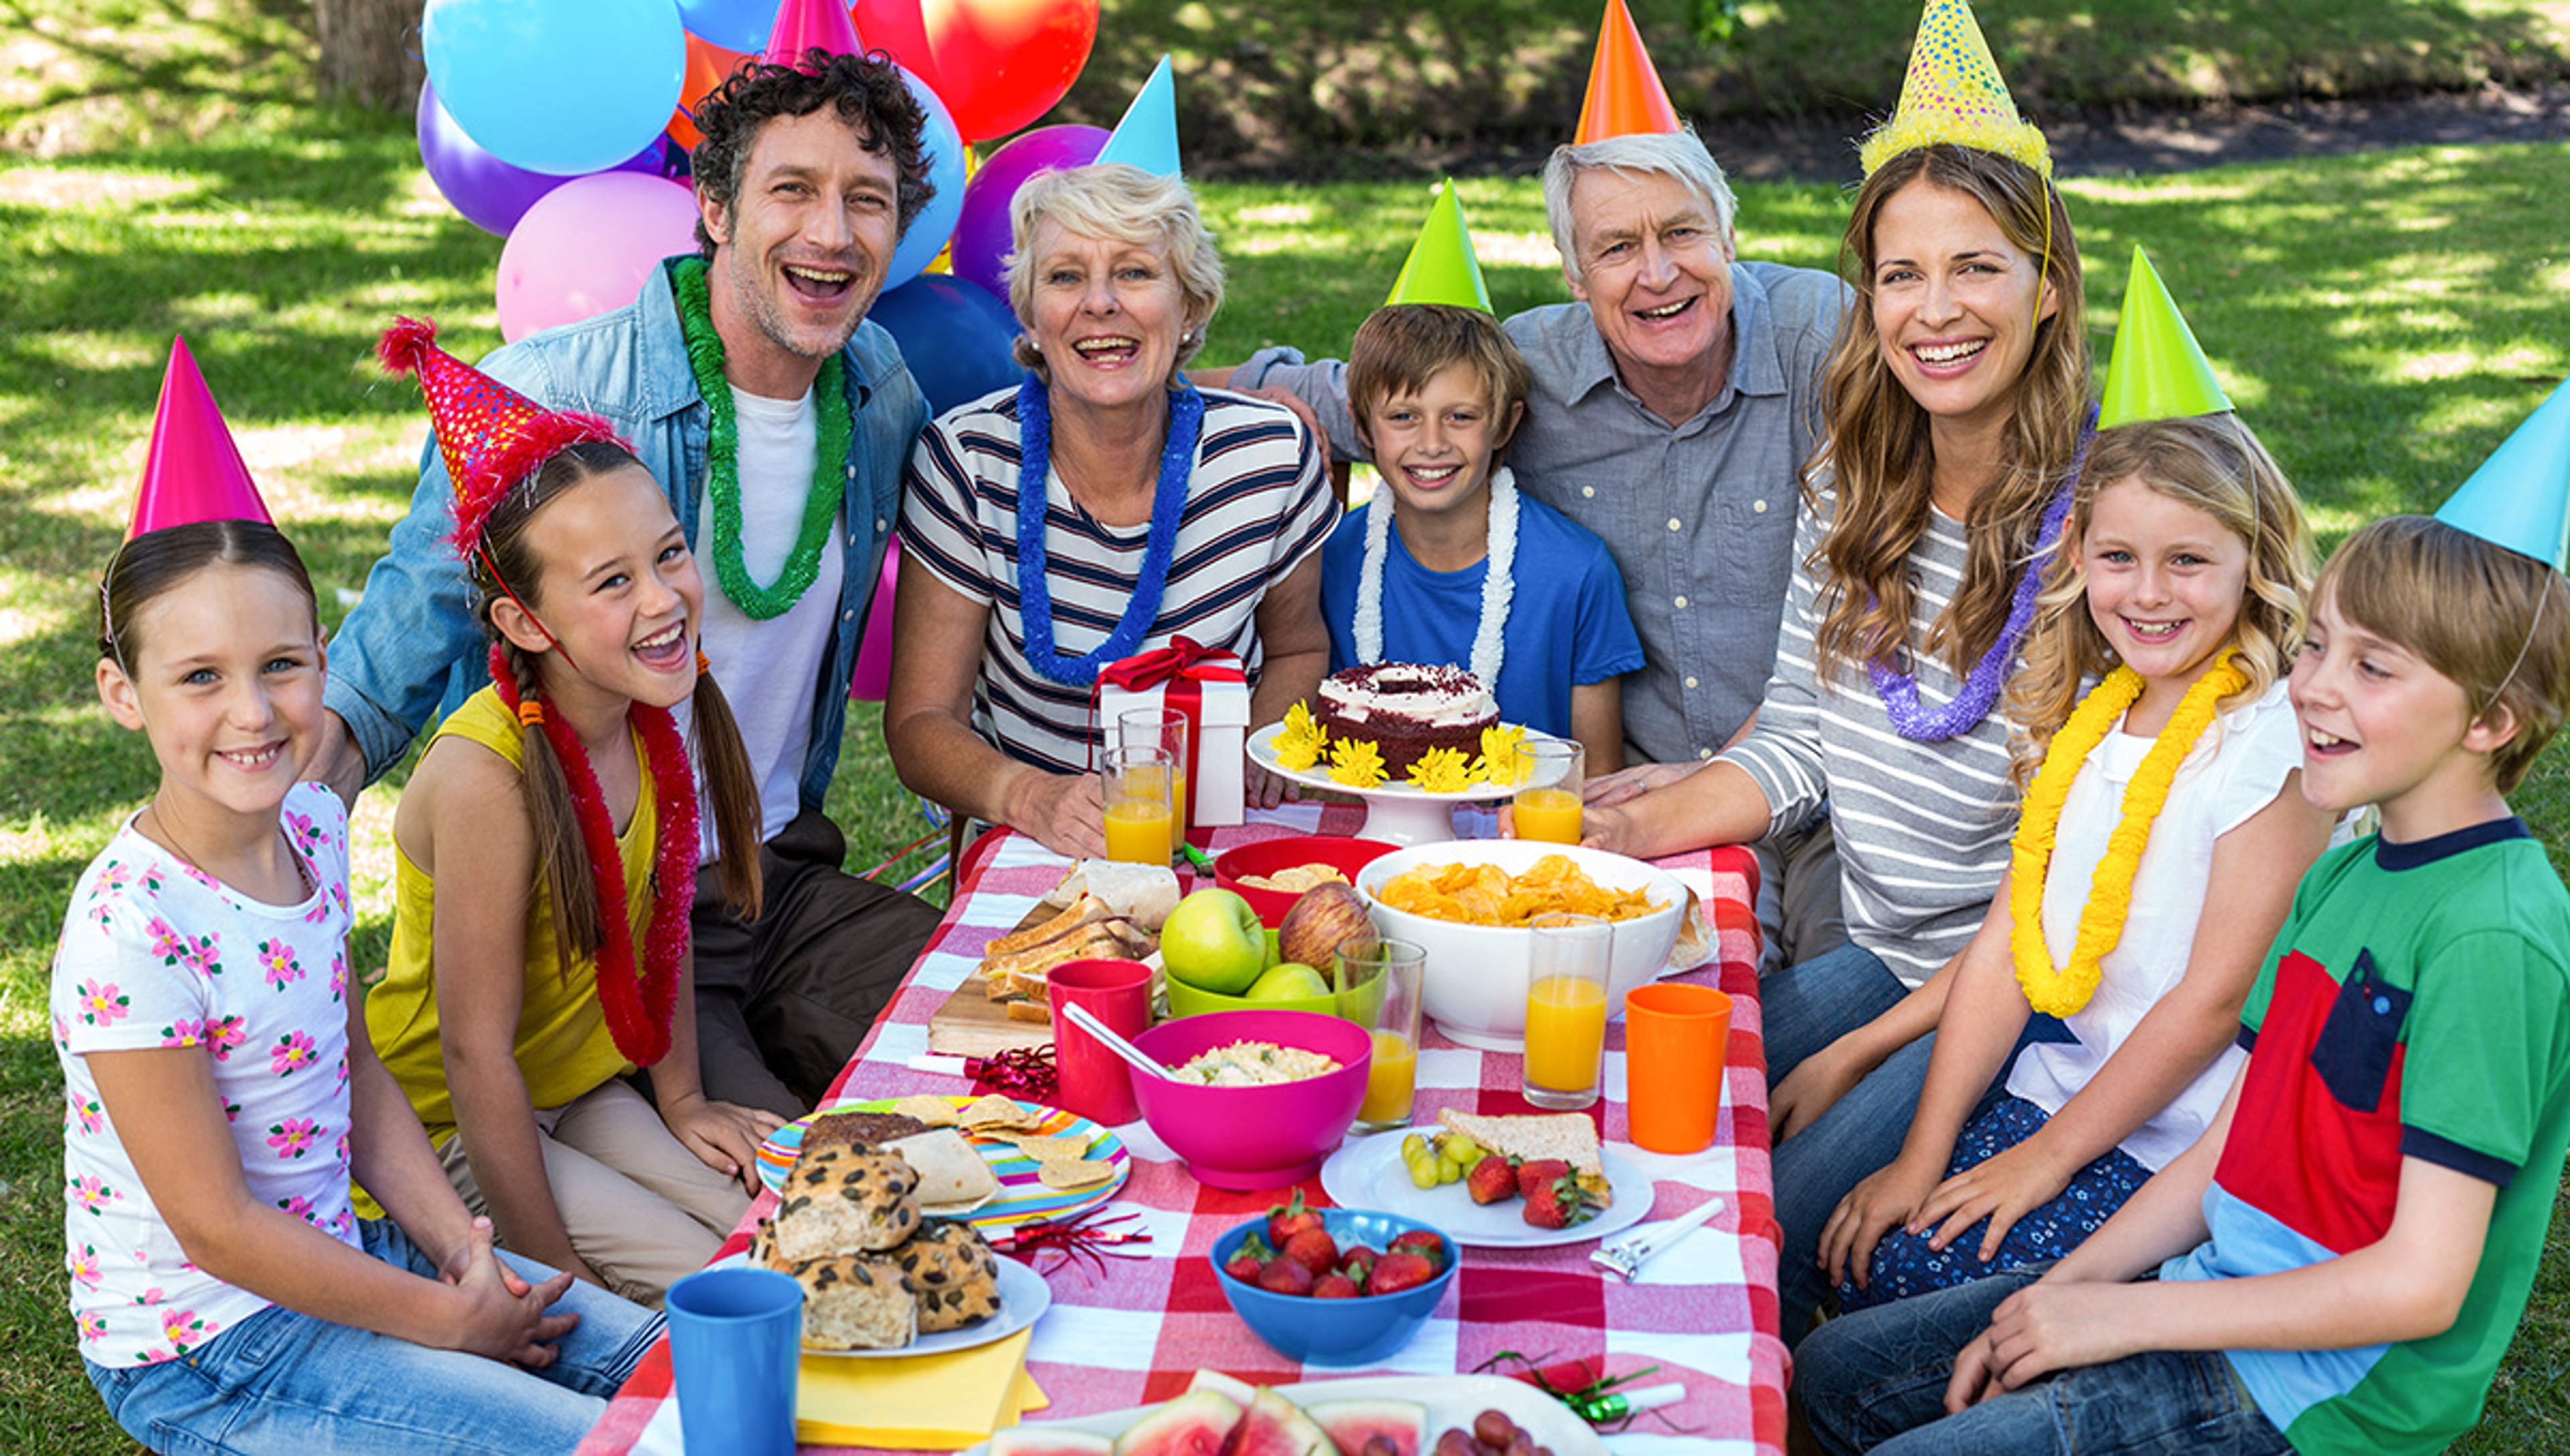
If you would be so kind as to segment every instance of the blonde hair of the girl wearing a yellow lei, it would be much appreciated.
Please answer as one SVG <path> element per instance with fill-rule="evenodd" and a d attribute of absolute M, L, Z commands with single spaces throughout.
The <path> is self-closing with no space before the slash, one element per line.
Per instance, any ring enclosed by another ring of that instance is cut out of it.
<path fill-rule="evenodd" d="M 2025 634 L 2025 668 L 2007 683 L 2015 724 L 2010 752 L 2017 786 L 2043 768 L 2043 747 L 2079 706 L 2082 683 L 2118 665 L 2087 609 L 2087 539 L 2097 496 L 2131 480 L 2154 496 L 2192 506 L 2249 547 L 2241 611 L 2231 624 L 2249 683 L 2220 709 L 2254 704 L 2292 670 L 2310 609 L 2313 544 L 2292 483 L 2233 413 L 2151 419 L 2100 429 L 2079 472 L 2079 496 L 2061 532 L 2061 550 L 2043 573 L 2035 624 Z"/>

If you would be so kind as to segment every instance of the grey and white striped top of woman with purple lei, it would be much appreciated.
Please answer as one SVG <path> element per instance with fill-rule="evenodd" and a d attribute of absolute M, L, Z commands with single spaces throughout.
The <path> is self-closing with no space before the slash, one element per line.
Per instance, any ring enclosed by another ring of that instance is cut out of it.
<path fill-rule="evenodd" d="M 1822 498 L 1827 480 L 1822 480 Z M 1822 506 L 1827 511 L 1827 503 Z M 2007 781 L 2007 722 L 1992 711 L 1945 742 L 1910 742 L 1892 729 L 1861 665 L 1840 663 L 1827 686 L 1812 670 L 1820 583 L 1812 552 L 1827 521 L 1812 508 L 1794 526 L 1794 583 L 1786 588 L 1758 727 L 1722 763 L 1748 770 L 1773 809 L 1773 824 L 1799 824 L 1822 801 L 1838 832 L 1840 901 L 1848 937 L 1884 958 L 1904 984 L 1935 976 L 1979 930 L 2007 871 L 2017 829 L 2017 791 Z M 1927 637 L 1963 583 L 1963 524 L 1930 514 L 1910 547 L 1912 642 Z M 1920 706 L 1943 706 L 1961 688 L 1940 657 L 1912 652 Z"/>

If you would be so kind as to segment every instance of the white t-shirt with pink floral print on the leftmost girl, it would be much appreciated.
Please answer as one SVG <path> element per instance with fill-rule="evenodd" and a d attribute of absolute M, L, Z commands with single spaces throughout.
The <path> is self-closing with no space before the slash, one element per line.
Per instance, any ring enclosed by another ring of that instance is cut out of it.
<path fill-rule="evenodd" d="M 49 1001 L 64 1091 L 64 1269 L 93 1364 L 180 1358 L 267 1299 L 188 1263 L 108 1120 L 87 1053 L 203 1048 L 249 1197 L 357 1245 L 347 811 L 329 788 L 301 783 L 280 824 L 316 886 L 301 904 L 247 899 L 126 819 L 62 917 Z"/>

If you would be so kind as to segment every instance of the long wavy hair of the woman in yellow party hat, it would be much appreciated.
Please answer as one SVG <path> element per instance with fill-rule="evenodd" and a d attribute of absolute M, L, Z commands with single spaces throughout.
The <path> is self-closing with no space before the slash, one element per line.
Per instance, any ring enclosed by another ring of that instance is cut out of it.
<path fill-rule="evenodd" d="M 1963 583 L 1920 645 L 1943 655 L 1956 675 L 1969 673 L 2007 627 L 2015 575 L 2035 555 L 2043 508 L 2061 488 L 2089 408 L 2079 241 L 2051 182 L 1994 152 L 1943 144 L 1902 152 L 1866 177 L 1840 244 L 1856 306 L 1840 316 L 1822 372 L 1830 431 L 1814 457 L 1814 467 L 1838 478 L 1830 534 L 1812 562 L 1825 568 L 1814 634 L 1814 670 L 1825 683 L 1843 663 L 1892 660 L 1910 645 L 1910 547 L 1927 532 L 1933 444 L 1927 411 L 1892 375 L 1874 329 L 1874 226 L 1884 203 L 1920 177 L 1981 203 L 2012 247 L 2041 259 L 2056 303 L 2053 316 L 2035 324 L 2033 354 L 2015 385 L 1999 480 L 1963 521 Z"/>

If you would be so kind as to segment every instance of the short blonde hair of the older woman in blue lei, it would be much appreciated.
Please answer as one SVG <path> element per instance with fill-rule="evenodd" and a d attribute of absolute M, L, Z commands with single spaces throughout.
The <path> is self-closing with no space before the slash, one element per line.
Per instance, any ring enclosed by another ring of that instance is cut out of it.
<path fill-rule="evenodd" d="M 1169 262 L 1182 303 L 1177 357 L 1169 362 L 1169 385 L 1174 388 L 1180 370 L 1205 347 L 1205 324 L 1223 306 L 1223 257 L 1213 252 L 1213 234 L 1205 231 L 1205 218 L 1195 211 L 1195 193 L 1187 190 L 1187 182 L 1123 162 L 1049 167 L 1028 177 L 1007 203 L 1013 247 L 1000 259 L 1007 272 L 1007 306 L 1018 313 L 1020 326 L 1036 316 L 1033 247 L 1043 223 L 1056 223 L 1074 236 L 1156 249 Z M 1020 334 L 1013 352 L 1018 365 L 1038 380 L 1054 380 L 1033 339 Z"/>

